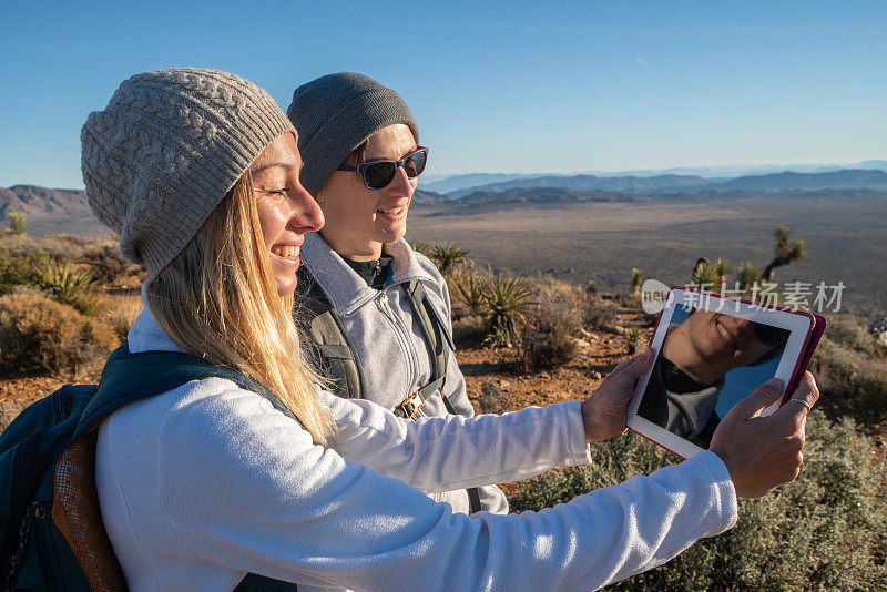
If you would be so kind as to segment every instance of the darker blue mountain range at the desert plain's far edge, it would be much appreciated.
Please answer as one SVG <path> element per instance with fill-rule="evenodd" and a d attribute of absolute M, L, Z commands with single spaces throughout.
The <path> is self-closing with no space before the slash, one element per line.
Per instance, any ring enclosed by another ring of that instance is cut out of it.
<path fill-rule="evenodd" d="M 844 170 L 829 173 L 783 172 L 768 175 L 746 175 L 737 178 L 703 178 L 696 175 L 615 176 L 597 175 L 521 177 L 499 183 L 467 187 L 450 193 L 460 198 L 476 192 L 503 192 L 528 187 L 563 187 L 577 191 L 609 191 L 618 193 L 674 192 L 785 192 L 826 188 L 887 191 L 887 172 Z"/>

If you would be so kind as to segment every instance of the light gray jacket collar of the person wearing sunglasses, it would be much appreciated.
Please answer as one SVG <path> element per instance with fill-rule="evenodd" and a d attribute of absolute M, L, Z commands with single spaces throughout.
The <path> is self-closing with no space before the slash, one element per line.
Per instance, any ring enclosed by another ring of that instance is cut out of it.
<path fill-rule="evenodd" d="M 402 284 L 414 279 L 434 280 L 421 267 L 405 239 L 385 243 L 383 249 L 394 257 L 389 284 Z M 327 295 L 333 307 L 341 315 L 354 313 L 378 294 L 378 290 L 367 286 L 364 278 L 357 275 L 318 233 L 305 235 L 305 242 L 302 244 L 302 262 Z"/>

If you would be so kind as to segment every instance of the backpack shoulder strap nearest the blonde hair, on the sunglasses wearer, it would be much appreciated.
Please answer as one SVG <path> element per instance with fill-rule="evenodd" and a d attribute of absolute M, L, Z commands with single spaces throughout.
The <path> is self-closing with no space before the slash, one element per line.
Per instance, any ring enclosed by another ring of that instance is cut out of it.
<path fill-rule="evenodd" d="M 306 354 L 327 378 L 329 389 L 345 399 L 365 397 L 360 356 L 333 303 L 305 266 L 296 272 L 294 319 L 308 341 Z"/>

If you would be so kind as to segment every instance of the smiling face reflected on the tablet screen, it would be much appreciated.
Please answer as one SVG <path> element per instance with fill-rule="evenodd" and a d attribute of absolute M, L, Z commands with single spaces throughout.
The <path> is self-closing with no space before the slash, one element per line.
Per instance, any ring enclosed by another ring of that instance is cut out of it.
<path fill-rule="evenodd" d="M 725 371 L 748 366 L 773 349 L 755 337 L 752 321 L 744 318 L 696 310 L 685 324 L 700 357 Z"/>

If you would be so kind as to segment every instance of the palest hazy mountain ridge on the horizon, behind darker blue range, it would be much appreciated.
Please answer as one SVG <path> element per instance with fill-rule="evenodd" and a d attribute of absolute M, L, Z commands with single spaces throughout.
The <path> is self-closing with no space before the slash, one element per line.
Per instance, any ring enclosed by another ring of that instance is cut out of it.
<path fill-rule="evenodd" d="M 534 174 L 513 174 L 513 173 L 470 173 L 461 175 L 425 175 L 422 177 L 422 188 L 438 193 L 452 193 L 468 187 L 479 187 L 491 183 L 501 183 L 517 178 L 538 178 L 538 177 L 570 177 L 577 175 L 594 175 L 598 177 L 624 177 L 624 176 L 662 176 L 662 175 L 691 175 L 707 180 L 735 178 L 744 175 L 767 175 L 772 173 L 834 173 L 843 170 L 878 170 L 887 171 L 887 161 L 870 160 L 856 164 L 765 164 L 765 165 L 720 165 L 720 166 L 680 166 L 673 169 L 650 170 L 640 169 L 634 171 L 579 171 L 570 174 L 534 173 Z"/>

